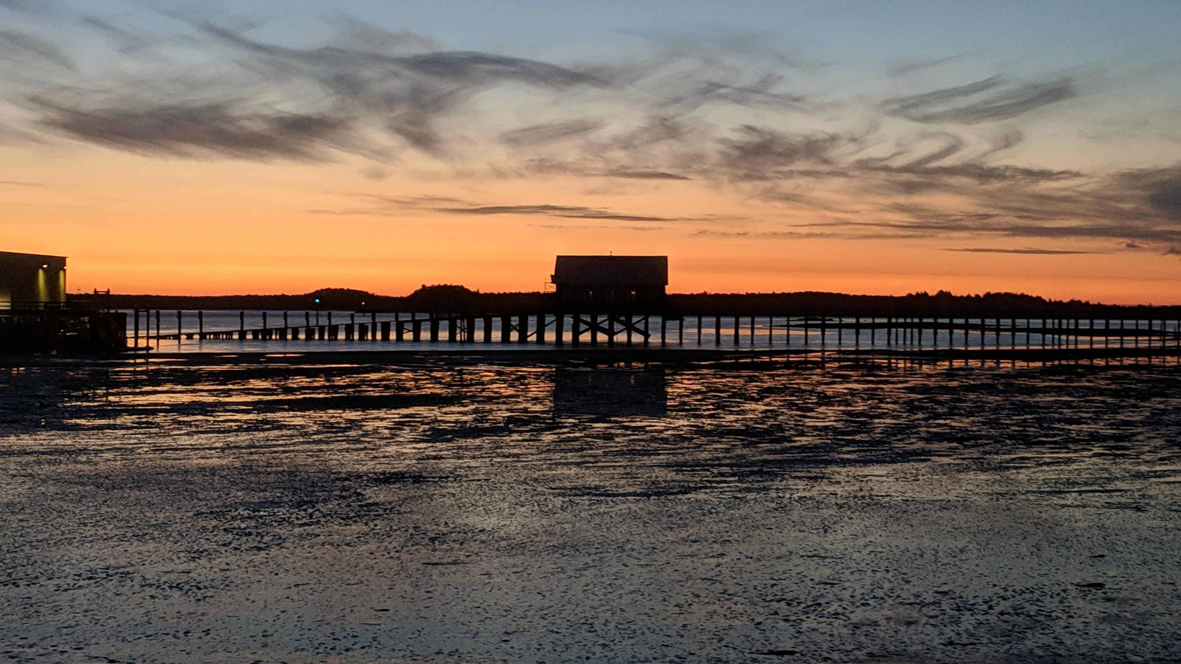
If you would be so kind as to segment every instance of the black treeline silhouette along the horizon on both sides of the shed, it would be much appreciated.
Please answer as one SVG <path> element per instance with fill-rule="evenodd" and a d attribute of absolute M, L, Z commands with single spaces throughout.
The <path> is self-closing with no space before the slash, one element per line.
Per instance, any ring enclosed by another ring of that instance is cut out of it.
<path fill-rule="evenodd" d="M 71 295 L 71 299 L 84 298 Z M 554 312 L 553 293 L 481 293 L 455 285 L 423 285 L 391 297 L 351 288 L 321 288 L 298 295 L 122 295 L 104 297 L 111 308 L 229 311 L 355 311 L 361 313 L 520 314 Z M 833 315 L 863 318 L 1181 318 L 1181 306 L 1104 305 L 1048 300 L 1023 293 L 954 295 L 947 291 L 907 295 L 844 293 L 671 293 L 666 315 Z"/>

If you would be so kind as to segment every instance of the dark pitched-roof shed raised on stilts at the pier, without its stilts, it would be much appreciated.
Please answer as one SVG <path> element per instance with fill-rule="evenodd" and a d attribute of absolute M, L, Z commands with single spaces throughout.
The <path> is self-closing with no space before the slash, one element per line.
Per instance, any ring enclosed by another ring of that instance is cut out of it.
<path fill-rule="evenodd" d="M 557 256 L 550 281 L 565 307 L 657 306 L 668 285 L 668 256 Z"/>

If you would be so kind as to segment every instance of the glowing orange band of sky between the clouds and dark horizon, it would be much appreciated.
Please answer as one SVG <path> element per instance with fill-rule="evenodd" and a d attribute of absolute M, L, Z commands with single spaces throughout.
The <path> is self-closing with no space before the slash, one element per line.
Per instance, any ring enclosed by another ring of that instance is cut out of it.
<path fill-rule="evenodd" d="M 983 243 L 958 236 L 777 237 L 764 229 L 807 224 L 815 214 L 694 181 L 448 182 L 420 174 L 374 181 L 355 163 L 162 160 L 80 148 L 48 155 L 8 149 L 5 158 L 20 164 L 13 170 L 21 176 L 20 183 L 0 187 L 5 249 L 70 256 L 71 292 L 196 295 L 350 287 L 398 295 L 422 284 L 537 291 L 554 255 L 614 252 L 667 254 L 670 292 L 1011 291 L 1181 304 L 1177 261 L 1121 252 L 1110 241 L 1055 245 L 1092 253 L 1005 254 L 952 250 Z M 428 196 L 482 207 L 586 207 L 668 221 L 439 213 L 432 209 L 438 206 L 416 202 Z"/>

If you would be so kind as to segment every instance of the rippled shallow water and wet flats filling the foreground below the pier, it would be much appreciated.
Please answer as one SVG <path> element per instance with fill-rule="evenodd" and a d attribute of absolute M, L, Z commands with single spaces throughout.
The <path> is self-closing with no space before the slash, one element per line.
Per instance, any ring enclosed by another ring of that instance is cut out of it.
<path fill-rule="evenodd" d="M 30 662 L 1181 659 L 1181 370 L 0 370 Z"/>

